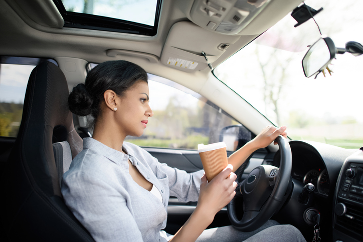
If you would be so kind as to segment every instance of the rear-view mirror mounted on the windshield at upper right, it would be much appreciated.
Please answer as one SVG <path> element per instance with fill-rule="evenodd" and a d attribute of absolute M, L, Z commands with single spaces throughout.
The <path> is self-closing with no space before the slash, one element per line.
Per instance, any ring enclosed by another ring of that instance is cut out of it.
<path fill-rule="evenodd" d="M 335 58 L 335 54 L 334 42 L 329 37 L 321 38 L 315 42 L 302 59 L 305 77 L 309 78 L 326 69 Z"/>

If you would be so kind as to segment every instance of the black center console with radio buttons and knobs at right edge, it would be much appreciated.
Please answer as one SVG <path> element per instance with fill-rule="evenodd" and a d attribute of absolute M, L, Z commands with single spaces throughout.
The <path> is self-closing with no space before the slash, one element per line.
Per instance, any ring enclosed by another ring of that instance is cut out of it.
<path fill-rule="evenodd" d="M 333 241 L 363 241 L 363 147 L 340 170 L 333 213 Z"/>

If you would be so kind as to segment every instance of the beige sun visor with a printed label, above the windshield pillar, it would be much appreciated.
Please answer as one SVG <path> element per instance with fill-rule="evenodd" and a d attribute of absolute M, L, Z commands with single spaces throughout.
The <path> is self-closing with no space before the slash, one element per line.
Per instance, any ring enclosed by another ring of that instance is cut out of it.
<path fill-rule="evenodd" d="M 204 70 L 239 38 L 210 32 L 192 22 L 178 22 L 167 36 L 161 63 L 185 72 Z"/>

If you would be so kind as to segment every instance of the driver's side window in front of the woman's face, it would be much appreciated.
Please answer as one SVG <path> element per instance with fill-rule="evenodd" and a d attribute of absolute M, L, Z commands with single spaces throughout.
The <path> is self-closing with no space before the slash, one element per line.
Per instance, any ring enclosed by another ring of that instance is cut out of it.
<path fill-rule="evenodd" d="M 227 150 L 234 151 L 238 141 L 222 133 L 227 126 L 232 126 L 235 132 L 246 130 L 249 134 L 246 137 L 251 139 L 250 131 L 198 93 L 150 74 L 148 83 L 154 116 L 141 137 L 128 136 L 126 141 L 139 146 L 180 149 L 197 149 L 200 143 L 225 141 Z"/>

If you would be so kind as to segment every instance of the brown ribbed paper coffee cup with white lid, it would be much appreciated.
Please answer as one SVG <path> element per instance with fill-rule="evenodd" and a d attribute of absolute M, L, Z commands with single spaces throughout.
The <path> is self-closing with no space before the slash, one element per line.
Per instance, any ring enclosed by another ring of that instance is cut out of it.
<path fill-rule="evenodd" d="M 208 182 L 228 165 L 226 147 L 227 145 L 225 142 L 198 145 L 198 153 L 201 156 Z"/>

